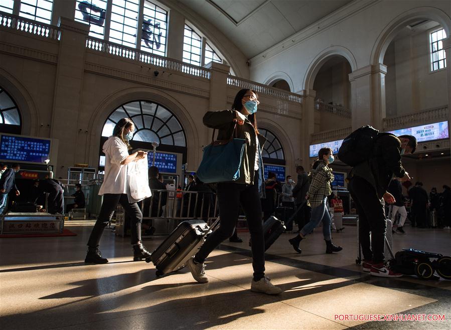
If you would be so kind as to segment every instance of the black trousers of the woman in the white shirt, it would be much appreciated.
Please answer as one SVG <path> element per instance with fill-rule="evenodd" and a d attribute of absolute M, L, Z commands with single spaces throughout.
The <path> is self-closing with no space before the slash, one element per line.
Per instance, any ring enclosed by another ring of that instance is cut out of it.
<path fill-rule="evenodd" d="M 128 216 L 128 219 L 130 219 L 131 244 L 136 244 L 141 241 L 142 213 L 138 207 L 138 203 L 129 203 L 126 194 L 104 194 L 100 214 L 92 229 L 88 246 L 96 247 L 99 245 L 103 230 L 108 226 L 117 203 L 122 205 L 125 210 L 125 216 Z"/>

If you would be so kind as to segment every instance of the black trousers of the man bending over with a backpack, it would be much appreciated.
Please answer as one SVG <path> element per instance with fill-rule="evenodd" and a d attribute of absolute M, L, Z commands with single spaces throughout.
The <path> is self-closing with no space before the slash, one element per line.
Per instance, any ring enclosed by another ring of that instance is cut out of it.
<path fill-rule="evenodd" d="M 385 210 L 376 189 L 365 179 L 355 176 L 348 184 L 359 213 L 359 241 L 365 260 L 384 261 Z M 371 232 L 371 243 L 370 243 Z"/>

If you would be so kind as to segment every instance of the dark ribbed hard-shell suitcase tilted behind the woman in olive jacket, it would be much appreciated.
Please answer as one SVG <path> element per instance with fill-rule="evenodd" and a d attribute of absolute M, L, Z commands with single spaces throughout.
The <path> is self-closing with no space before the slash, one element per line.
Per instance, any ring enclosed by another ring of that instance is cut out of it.
<path fill-rule="evenodd" d="M 205 237 L 219 223 L 219 218 L 210 228 L 203 220 L 184 221 L 146 258 L 157 267 L 157 276 L 175 272 L 185 267 L 187 261 L 196 254 Z"/>

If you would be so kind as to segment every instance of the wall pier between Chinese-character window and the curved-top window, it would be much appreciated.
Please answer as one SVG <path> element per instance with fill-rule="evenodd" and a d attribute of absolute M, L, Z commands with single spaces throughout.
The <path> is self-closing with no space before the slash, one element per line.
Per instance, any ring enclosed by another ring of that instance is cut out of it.
<path fill-rule="evenodd" d="M 166 39 L 166 56 L 182 61 L 184 32 L 185 17 L 177 11 L 171 11 L 168 23 L 168 38 Z"/>

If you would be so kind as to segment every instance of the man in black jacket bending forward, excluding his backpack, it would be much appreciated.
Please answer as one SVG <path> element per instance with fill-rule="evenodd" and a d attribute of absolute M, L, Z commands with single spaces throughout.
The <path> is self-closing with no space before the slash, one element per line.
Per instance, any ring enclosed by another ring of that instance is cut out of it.
<path fill-rule="evenodd" d="M 348 175 L 348 189 L 359 212 L 359 239 L 363 251 L 363 270 L 374 276 L 400 277 L 384 264 L 385 210 L 384 201 L 392 204 L 395 198 L 387 192 L 394 176 L 409 180 L 401 163 L 401 155 L 411 154 L 416 148 L 411 135 L 399 138 L 379 134 L 372 147 L 372 156 L 356 166 Z M 371 232 L 371 243 L 370 243 Z"/>

